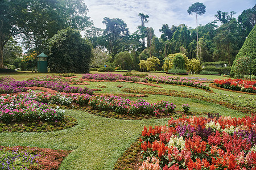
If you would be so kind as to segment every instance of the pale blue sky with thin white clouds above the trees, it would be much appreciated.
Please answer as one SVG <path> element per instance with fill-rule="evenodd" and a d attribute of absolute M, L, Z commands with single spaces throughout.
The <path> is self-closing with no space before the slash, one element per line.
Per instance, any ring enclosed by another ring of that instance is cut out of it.
<path fill-rule="evenodd" d="M 217 11 L 237 12 L 234 18 L 242 13 L 243 10 L 253 8 L 255 0 L 83 0 L 88 7 L 87 16 L 93 21 L 94 27 L 105 29 L 102 21 L 105 17 L 122 19 L 129 28 L 130 33 L 137 31 L 141 25 L 139 13 L 148 15 L 146 27 L 152 27 L 156 37 L 162 34 L 159 29 L 163 24 L 172 25 L 185 24 L 196 28 L 196 15 L 189 15 L 187 10 L 195 2 L 203 3 L 206 8 L 205 14 L 198 16 L 198 24 L 205 25 L 213 22 Z"/>

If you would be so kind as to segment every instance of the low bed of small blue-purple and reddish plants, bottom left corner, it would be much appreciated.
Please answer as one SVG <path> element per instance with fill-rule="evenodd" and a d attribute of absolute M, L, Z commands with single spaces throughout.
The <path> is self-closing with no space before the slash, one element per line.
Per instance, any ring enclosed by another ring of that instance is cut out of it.
<path fill-rule="evenodd" d="M 39 147 L 0 146 L 1 169 L 59 169 L 70 151 Z"/>

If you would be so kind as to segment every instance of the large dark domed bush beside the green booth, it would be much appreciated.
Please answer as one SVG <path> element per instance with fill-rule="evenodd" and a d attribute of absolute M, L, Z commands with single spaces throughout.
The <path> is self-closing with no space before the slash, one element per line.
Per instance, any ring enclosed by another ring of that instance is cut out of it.
<path fill-rule="evenodd" d="M 49 68 L 52 73 L 89 73 L 92 48 L 80 32 L 63 29 L 49 42 Z"/>

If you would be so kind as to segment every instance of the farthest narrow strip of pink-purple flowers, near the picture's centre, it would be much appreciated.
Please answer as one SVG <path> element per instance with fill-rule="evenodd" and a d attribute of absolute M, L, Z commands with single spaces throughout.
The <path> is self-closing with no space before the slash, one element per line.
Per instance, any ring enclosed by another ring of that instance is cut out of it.
<path fill-rule="evenodd" d="M 140 78 L 138 76 L 123 76 L 121 74 L 84 74 L 82 79 L 94 79 L 94 80 L 127 80 L 133 82 L 139 82 Z"/>

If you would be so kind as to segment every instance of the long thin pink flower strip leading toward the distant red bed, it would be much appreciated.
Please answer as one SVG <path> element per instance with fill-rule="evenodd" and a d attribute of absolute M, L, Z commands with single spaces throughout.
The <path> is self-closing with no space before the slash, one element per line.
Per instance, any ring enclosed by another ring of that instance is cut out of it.
<path fill-rule="evenodd" d="M 181 77 L 176 77 L 176 76 L 148 75 L 148 76 L 146 76 L 146 79 L 150 82 L 184 85 L 184 86 L 191 86 L 191 87 L 201 88 L 201 89 L 204 89 L 204 90 L 210 90 L 210 87 L 208 87 L 205 84 L 202 84 L 200 82 L 195 82 L 195 81 L 192 81 L 192 80 L 188 80 L 187 78 L 181 78 Z"/>

